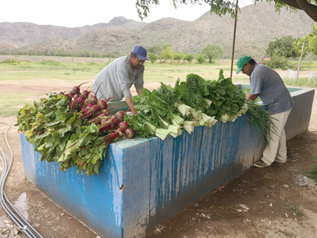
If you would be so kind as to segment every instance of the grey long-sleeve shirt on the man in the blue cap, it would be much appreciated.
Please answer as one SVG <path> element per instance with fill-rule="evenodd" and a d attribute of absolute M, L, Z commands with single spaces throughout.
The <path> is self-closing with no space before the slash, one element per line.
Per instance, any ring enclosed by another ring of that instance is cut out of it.
<path fill-rule="evenodd" d="M 104 95 L 106 99 L 113 97 L 109 101 L 120 101 L 123 97 L 132 97 L 130 87 L 134 84 L 136 90 L 143 89 L 144 65 L 135 71 L 130 64 L 130 55 L 119 57 L 102 69 L 94 78 L 94 92 L 97 87 L 98 99 Z M 102 82 L 102 83 L 101 83 Z"/>

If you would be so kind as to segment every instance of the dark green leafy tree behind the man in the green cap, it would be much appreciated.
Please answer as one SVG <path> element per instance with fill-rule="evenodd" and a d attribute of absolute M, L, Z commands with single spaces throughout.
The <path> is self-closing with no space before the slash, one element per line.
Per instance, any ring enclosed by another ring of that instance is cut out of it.
<path fill-rule="evenodd" d="M 283 36 L 282 38 L 276 38 L 275 41 L 269 42 L 269 48 L 267 53 L 273 58 L 274 54 L 278 54 L 281 57 L 296 58 L 300 56 L 300 53 L 296 48 L 299 38 L 293 36 Z"/>

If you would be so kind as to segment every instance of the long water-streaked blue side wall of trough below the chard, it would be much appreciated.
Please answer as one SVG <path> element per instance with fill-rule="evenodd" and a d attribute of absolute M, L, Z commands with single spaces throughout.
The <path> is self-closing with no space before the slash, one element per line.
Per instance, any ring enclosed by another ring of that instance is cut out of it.
<path fill-rule="evenodd" d="M 250 167 L 259 140 L 241 116 L 234 123 L 196 127 L 191 135 L 125 148 L 122 224 L 127 237 L 155 228 Z"/>

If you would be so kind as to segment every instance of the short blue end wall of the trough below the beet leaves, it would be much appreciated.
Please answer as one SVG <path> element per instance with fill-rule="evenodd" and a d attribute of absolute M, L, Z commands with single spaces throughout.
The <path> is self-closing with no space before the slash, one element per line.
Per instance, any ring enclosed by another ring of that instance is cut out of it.
<path fill-rule="evenodd" d="M 62 172 L 56 162 L 41 162 L 24 135 L 20 135 L 24 174 L 48 197 L 102 237 L 122 237 L 122 153 L 108 150 L 99 176 Z M 105 236 L 106 235 L 106 236 Z"/>

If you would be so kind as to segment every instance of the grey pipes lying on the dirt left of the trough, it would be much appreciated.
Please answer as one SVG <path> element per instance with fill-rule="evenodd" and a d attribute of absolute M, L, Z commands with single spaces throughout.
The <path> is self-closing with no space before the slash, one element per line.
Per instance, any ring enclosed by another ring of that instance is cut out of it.
<path fill-rule="evenodd" d="M 1 123 L 1 122 L 0 122 Z M 13 207 L 13 204 L 10 203 L 8 200 L 8 197 L 6 197 L 6 194 L 4 193 L 4 184 L 6 183 L 6 178 L 8 177 L 8 174 L 10 172 L 10 169 L 13 164 L 13 152 L 10 148 L 10 144 L 8 143 L 8 138 L 7 138 L 7 132 L 10 129 L 10 124 L 8 123 L 1 123 L 8 125 L 6 132 L 4 133 L 4 137 L 6 139 L 6 145 L 8 146 L 8 150 L 10 151 L 10 165 L 7 167 L 6 164 L 6 156 L 3 153 L 2 148 L 0 147 L 0 159 L 1 163 L 3 165 L 3 170 L 1 172 L 1 179 L 0 179 L 0 204 L 3 210 L 8 214 L 8 216 L 11 218 L 13 223 L 17 225 L 18 228 L 22 232 L 24 232 L 27 237 L 30 238 L 44 238 L 29 222 Z M 9 206 L 8 206 L 9 205 Z"/>

